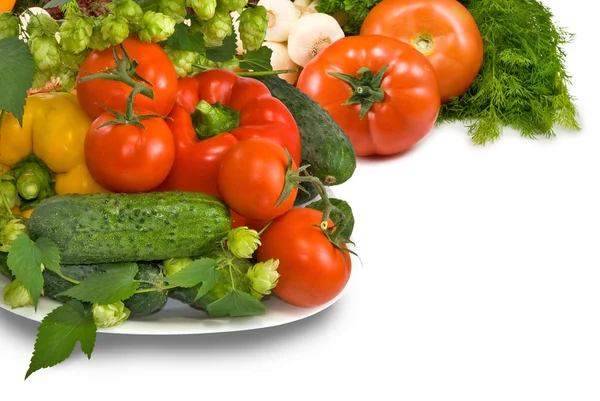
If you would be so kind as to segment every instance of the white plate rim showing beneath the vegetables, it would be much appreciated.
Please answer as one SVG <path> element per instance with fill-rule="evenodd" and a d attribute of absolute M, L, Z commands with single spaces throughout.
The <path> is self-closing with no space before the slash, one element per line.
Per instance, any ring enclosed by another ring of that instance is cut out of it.
<path fill-rule="evenodd" d="M 357 271 L 360 268 L 357 258 L 352 255 L 352 273 L 344 290 L 331 302 L 315 308 L 293 306 L 271 295 L 264 300 L 266 312 L 263 315 L 211 319 L 202 311 L 193 309 L 174 299 L 169 299 L 164 308 L 153 315 L 131 319 L 116 327 L 99 328 L 98 331 L 133 335 L 174 335 L 222 333 L 279 326 L 305 319 L 333 305 L 356 282 Z M 0 276 L 0 295 L 4 293 L 4 287 L 8 283 L 10 283 L 10 280 Z M 37 311 L 33 307 L 11 309 L 10 306 L 4 303 L 3 297 L 0 296 L 0 308 L 37 322 L 41 322 L 44 316 L 59 305 L 59 302 L 42 297 L 38 303 Z"/>

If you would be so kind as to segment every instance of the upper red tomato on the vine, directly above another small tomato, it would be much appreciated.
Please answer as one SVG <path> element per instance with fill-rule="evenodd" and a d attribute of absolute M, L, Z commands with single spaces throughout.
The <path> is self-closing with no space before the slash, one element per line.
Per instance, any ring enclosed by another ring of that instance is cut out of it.
<path fill-rule="evenodd" d="M 135 107 L 167 116 L 177 99 L 177 73 L 169 56 L 158 44 L 144 43 L 133 37 L 125 39 L 123 46 L 129 58 L 138 63 L 136 73 L 150 82 L 151 89 L 154 91 L 154 100 L 141 94 L 136 95 Z M 120 57 L 123 57 L 120 46 L 117 46 L 117 52 Z M 115 66 L 113 47 L 109 47 L 101 52 L 91 52 L 79 69 L 77 98 L 83 110 L 92 119 L 104 113 L 104 109 L 98 104 L 113 110 L 124 109 L 132 87 L 122 82 L 105 79 L 86 82 L 79 82 L 79 79 Z"/>

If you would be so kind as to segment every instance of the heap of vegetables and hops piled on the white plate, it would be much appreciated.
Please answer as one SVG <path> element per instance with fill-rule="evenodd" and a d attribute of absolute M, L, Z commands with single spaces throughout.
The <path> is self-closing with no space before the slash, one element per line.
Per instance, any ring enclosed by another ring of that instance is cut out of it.
<path fill-rule="evenodd" d="M 3 302 L 61 303 L 26 378 L 168 299 L 238 318 L 342 292 L 354 216 L 327 187 L 356 153 L 273 69 L 266 5 L 24 3 L 0 14 Z"/>

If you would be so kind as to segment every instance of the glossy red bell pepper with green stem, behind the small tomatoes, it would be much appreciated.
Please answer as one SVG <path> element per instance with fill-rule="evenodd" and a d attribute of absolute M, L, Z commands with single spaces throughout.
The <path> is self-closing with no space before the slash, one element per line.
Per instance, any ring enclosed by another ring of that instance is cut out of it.
<path fill-rule="evenodd" d="M 237 141 L 262 137 L 285 147 L 300 165 L 300 133 L 290 111 L 261 82 L 214 69 L 179 80 L 177 103 L 166 120 L 175 162 L 157 190 L 219 196 L 222 156 Z"/>

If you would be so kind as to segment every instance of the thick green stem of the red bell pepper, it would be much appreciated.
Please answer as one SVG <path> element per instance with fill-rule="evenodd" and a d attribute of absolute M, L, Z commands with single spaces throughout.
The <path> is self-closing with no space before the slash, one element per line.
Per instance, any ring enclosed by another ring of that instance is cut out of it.
<path fill-rule="evenodd" d="M 239 127 L 240 112 L 221 103 L 210 104 L 201 100 L 192 114 L 192 124 L 198 138 L 207 139 Z"/>

